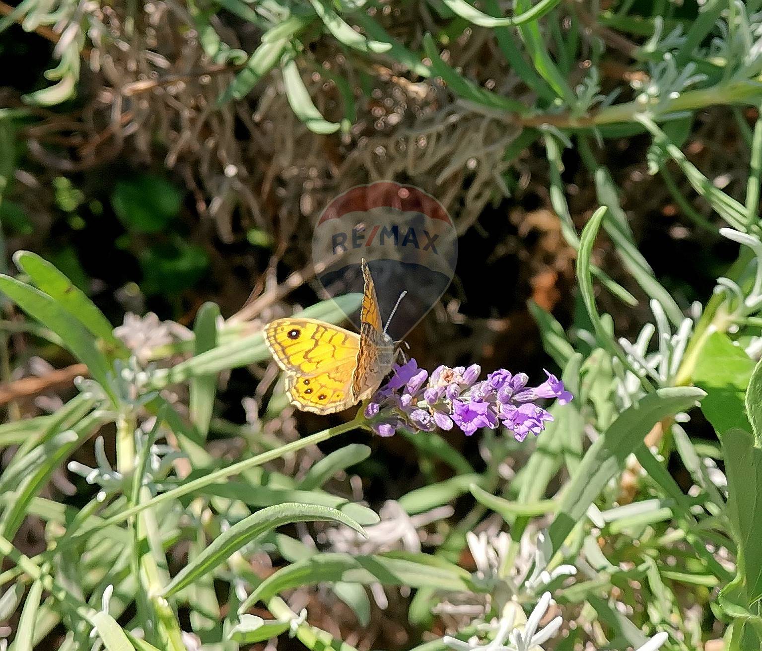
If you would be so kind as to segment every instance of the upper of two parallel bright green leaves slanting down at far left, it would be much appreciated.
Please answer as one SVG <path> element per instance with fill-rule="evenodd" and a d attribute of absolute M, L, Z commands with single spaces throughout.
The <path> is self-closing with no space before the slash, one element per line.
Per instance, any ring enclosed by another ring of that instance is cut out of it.
<path fill-rule="evenodd" d="M 13 260 L 19 269 L 27 273 L 40 291 L 53 298 L 95 337 L 101 338 L 120 352 L 126 353 L 123 343 L 114 337 L 114 327 L 103 312 L 85 295 L 85 292 L 75 287 L 72 281 L 55 266 L 30 251 L 16 251 Z"/>

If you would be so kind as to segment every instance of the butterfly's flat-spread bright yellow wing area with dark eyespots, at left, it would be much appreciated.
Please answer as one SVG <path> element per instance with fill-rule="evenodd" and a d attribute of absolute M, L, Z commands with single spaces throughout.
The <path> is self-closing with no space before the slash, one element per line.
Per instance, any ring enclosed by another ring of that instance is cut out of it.
<path fill-rule="evenodd" d="M 352 378 L 360 337 L 316 319 L 277 319 L 264 341 L 286 372 L 291 404 L 303 411 L 334 413 L 357 403 Z"/>

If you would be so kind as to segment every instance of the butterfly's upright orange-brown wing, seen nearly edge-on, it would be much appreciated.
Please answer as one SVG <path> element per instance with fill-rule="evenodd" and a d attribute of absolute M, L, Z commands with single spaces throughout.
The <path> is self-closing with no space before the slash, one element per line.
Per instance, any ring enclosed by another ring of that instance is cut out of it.
<path fill-rule="evenodd" d="M 394 345 L 383 331 L 376 286 L 365 260 L 362 269 L 364 290 L 360 308 L 360 350 L 352 378 L 352 393 L 356 400 L 365 400 L 379 388 L 384 376 L 392 369 L 394 355 Z"/>

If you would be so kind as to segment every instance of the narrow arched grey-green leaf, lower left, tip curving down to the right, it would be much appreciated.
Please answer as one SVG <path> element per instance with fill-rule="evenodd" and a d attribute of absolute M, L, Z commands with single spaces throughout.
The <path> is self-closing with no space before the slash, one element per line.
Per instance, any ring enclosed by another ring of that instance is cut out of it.
<path fill-rule="evenodd" d="M 227 531 L 219 535 L 209 547 L 207 547 L 193 563 L 185 566 L 177 576 L 172 579 L 162 591 L 163 597 L 171 597 L 181 589 L 189 586 L 199 576 L 203 576 L 213 570 L 220 563 L 224 563 L 231 554 L 238 551 L 245 544 L 251 542 L 265 531 L 270 531 L 281 525 L 291 522 L 312 522 L 315 520 L 328 520 L 341 522 L 347 527 L 364 535 L 363 528 L 336 509 L 327 506 L 314 506 L 309 504 L 284 503 L 277 506 L 268 506 L 249 515 L 232 525 Z"/>

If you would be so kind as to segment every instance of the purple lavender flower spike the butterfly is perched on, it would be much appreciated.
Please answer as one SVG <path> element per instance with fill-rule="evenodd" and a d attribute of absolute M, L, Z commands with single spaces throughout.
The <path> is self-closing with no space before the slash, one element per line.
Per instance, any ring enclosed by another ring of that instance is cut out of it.
<path fill-rule="evenodd" d="M 546 381 L 527 387 L 529 377 L 506 369 L 477 381 L 481 368 L 440 366 L 431 375 L 419 369 L 415 359 L 395 365 L 392 377 L 376 391 L 365 407 L 371 429 L 379 436 L 392 436 L 405 427 L 413 432 L 452 429 L 466 436 L 482 428 L 504 426 L 518 441 L 530 432 L 538 436 L 553 416 L 538 400 L 554 399 L 567 404 L 572 395 L 552 373 Z M 428 380 L 428 381 L 427 381 Z"/>

